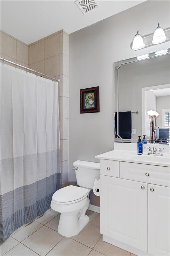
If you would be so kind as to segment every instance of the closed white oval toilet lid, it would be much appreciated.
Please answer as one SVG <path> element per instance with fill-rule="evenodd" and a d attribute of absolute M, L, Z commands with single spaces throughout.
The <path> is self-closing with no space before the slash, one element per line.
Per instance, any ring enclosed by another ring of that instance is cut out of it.
<path fill-rule="evenodd" d="M 89 189 L 87 188 L 81 188 L 70 185 L 57 190 L 53 194 L 52 199 L 58 203 L 67 203 L 77 201 L 78 199 L 87 196 L 88 193 Z"/>

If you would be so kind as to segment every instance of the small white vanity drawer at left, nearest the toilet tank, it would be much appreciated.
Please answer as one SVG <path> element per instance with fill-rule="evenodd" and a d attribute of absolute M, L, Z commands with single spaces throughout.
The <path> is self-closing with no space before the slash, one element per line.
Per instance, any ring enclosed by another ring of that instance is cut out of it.
<path fill-rule="evenodd" d="M 100 174 L 119 177 L 119 161 L 101 159 Z"/>

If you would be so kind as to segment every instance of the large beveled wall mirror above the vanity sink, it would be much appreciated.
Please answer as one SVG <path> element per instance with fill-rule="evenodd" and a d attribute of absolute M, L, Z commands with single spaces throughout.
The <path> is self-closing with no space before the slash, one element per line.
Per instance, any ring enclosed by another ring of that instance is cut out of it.
<path fill-rule="evenodd" d="M 115 141 L 170 143 L 170 49 L 115 63 Z"/>

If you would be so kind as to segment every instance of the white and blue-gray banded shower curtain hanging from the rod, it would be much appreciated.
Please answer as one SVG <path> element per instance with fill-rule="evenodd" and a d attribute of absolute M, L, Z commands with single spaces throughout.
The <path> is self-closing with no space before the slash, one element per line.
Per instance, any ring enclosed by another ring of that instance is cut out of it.
<path fill-rule="evenodd" d="M 0 63 L 0 241 L 61 186 L 58 83 Z"/>

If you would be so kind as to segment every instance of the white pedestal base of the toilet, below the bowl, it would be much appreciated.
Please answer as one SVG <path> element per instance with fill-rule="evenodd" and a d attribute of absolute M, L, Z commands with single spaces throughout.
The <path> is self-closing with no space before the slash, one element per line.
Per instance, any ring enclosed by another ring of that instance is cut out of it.
<path fill-rule="evenodd" d="M 61 213 L 58 233 L 62 236 L 71 237 L 77 235 L 89 222 L 89 217 L 85 215 L 82 219 L 78 219 L 78 212 L 70 216 L 70 213 L 66 215 Z"/>

